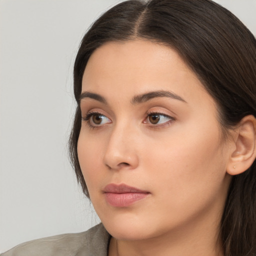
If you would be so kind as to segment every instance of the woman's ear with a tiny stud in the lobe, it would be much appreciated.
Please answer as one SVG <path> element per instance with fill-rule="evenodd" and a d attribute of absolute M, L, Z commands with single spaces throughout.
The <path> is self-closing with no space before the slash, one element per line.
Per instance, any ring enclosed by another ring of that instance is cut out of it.
<path fill-rule="evenodd" d="M 227 173 L 236 175 L 247 170 L 256 157 L 256 119 L 246 115 L 241 119 L 233 136 L 234 150 L 231 150 L 226 167 Z"/>

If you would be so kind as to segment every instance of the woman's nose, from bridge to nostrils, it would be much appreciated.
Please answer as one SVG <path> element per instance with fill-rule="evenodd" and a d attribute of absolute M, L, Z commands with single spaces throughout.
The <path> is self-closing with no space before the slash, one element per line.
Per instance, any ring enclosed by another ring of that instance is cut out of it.
<path fill-rule="evenodd" d="M 138 166 L 136 133 L 131 125 L 113 128 L 103 156 L 103 162 L 109 169 L 135 169 Z"/>

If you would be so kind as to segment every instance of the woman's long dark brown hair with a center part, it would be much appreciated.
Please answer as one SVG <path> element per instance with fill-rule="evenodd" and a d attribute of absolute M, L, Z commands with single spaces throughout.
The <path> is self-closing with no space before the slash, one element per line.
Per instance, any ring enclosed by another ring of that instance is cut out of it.
<path fill-rule="evenodd" d="M 211 0 L 128 0 L 101 15 L 84 35 L 74 63 L 77 108 L 70 159 L 83 192 L 77 158 L 82 75 L 91 53 L 109 41 L 143 38 L 175 49 L 214 98 L 223 134 L 256 116 L 256 40 L 227 9 Z M 256 164 L 232 177 L 220 227 L 225 256 L 256 255 Z"/>

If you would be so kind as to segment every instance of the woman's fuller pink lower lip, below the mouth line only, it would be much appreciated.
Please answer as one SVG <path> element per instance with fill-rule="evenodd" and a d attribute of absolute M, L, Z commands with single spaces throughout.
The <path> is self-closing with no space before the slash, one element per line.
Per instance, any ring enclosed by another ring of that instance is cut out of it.
<path fill-rule="evenodd" d="M 105 193 L 106 201 L 114 207 L 126 207 L 139 201 L 149 193 Z"/>

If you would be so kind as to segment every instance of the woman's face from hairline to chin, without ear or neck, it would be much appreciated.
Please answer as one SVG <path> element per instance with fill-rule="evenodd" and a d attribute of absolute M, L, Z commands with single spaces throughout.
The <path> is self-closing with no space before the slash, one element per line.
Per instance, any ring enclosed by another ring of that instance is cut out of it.
<path fill-rule="evenodd" d="M 176 51 L 145 40 L 102 45 L 86 65 L 80 107 L 79 163 L 110 234 L 216 229 L 230 149 L 214 100 Z"/>

